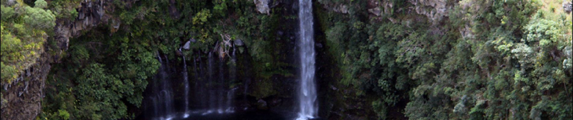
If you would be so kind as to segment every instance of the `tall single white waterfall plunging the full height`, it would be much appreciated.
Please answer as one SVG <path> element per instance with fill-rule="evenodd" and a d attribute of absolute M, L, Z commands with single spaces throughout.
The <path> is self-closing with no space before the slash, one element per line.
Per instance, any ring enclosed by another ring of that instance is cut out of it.
<path fill-rule="evenodd" d="M 315 85 L 315 42 L 312 1 L 299 0 L 300 92 L 299 118 L 315 118 L 318 111 Z"/>

